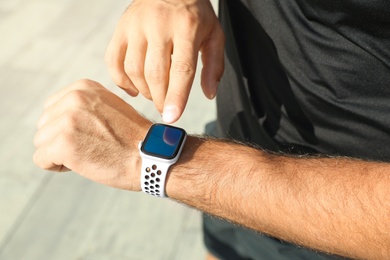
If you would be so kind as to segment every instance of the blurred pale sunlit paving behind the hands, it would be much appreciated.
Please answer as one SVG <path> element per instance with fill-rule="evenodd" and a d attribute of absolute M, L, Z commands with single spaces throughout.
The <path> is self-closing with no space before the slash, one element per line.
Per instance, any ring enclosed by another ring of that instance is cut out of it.
<path fill-rule="evenodd" d="M 118 89 L 104 52 L 129 0 L 0 0 L 0 259 L 204 259 L 200 213 L 32 162 L 43 103 L 90 78 L 160 121 L 154 105 Z M 215 1 L 214 1 L 215 6 Z M 203 133 L 216 116 L 196 78 L 176 125 Z"/>

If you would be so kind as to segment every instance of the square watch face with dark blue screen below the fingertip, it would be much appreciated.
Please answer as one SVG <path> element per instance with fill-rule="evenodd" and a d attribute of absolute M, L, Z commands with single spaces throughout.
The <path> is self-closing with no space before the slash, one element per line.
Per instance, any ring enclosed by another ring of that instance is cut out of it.
<path fill-rule="evenodd" d="M 155 124 L 146 135 L 141 151 L 145 154 L 164 159 L 176 157 L 186 133 L 183 129 Z"/>

